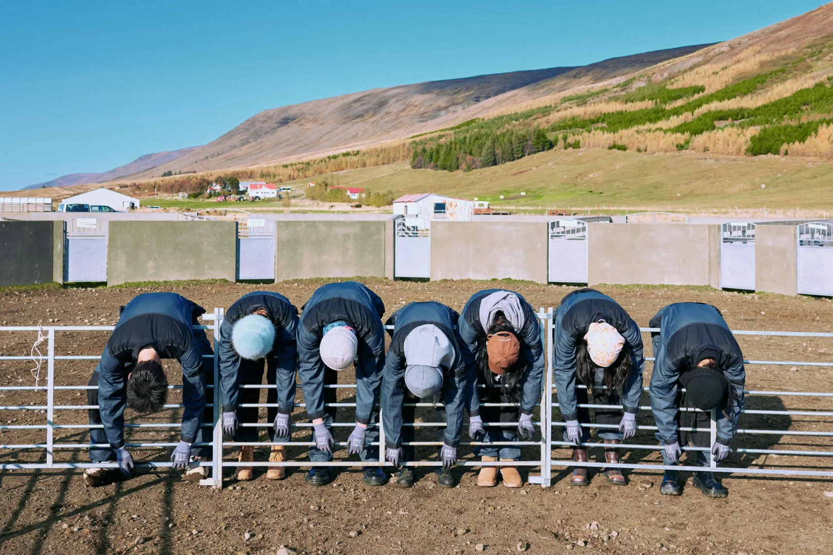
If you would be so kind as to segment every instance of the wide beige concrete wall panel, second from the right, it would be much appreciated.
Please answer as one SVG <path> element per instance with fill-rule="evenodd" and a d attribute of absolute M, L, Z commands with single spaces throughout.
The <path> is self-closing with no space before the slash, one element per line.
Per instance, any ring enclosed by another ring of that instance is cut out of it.
<path fill-rule="evenodd" d="M 713 285 L 719 279 L 719 262 L 715 275 L 712 260 L 711 225 L 591 223 L 587 227 L 591 286 Z"/>

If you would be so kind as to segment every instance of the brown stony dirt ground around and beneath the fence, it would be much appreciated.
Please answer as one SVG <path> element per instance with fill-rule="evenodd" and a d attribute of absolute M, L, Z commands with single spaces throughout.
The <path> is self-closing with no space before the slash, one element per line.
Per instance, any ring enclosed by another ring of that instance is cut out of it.
<path fill-rule="evenodd" d="M 496 286 L 520 292 L 536 308 L 557 305 L 569 288 L 527 282 L 439 281 L 430 283 L 365 280 L 382 297 L 388 314 L 411 300 L 439 300 L 461 310 L 477 290 Z M 227 307 L 252 290 L 277 290 L 301 306 L 323 280 L 290 281 L 275 285 L 225 282 L 152 285 L 150 287 L 99 289 L 0 290 L 2 325 L 112 325 L 119 305 L 134 295 L 155 290 L 175 290 L 211 311 Z M 629 310 L 639 325 L 661 306 L 683 300 L 718 306 L 737 330 L 830 331 L 833 302 L 780 295 L 739 295 L 707 288 L 616 286 L 600 287 Z M 0 332 L 0 354 L 28 354 L 33 333 Z M 56 354 L 100 354 L 105 332 L 61 332 Z M 833 340 L 810 338 L 738 338 L 747 359 L 829 361 Z M 650 354 L 650 342 L 646 354 Z M 0 361 L 0 385 L 33 385 L 30 362 Z M 174 364 L 169 364 L 175 369 Z M 58 361 L 56 384 L 87 384 L 90 361 Z M 646 365 L 646 384 L 651 364 Z M 777 391 L 833 391 L 833 369 L 773 365 L 748 365 L 747 389 Z M 349 372 L 342 373 L 352 382 Z M 45 375 L 45 369 L 42 377 Z M 176 372 L 171 373 L 177 375 Z M 41 384 L 44 380 L 41 380 Z M 349 390 L 339 390 L 339 400 L 351 400 Z M 0 392 L 0 404 L 45 404 L 43 392 Z M 175 402 L 176 396 L 172 395 Z M 298 402 L 302 401 L 300 389 Z M 56 392 L 57 404 L 83 404 L 82 392 Z M 649 404 L 643 395 L 642 404 Z M 833 410 L 833 402 L 759 394 L 747 396 L 746 409 Z M 426 409 L 430 410 L 430 409 Z M 142 422 L 176 422 L 167 411 Z M 265 410 L 263 411 L 265 419 Z M 431 413 L 422 412 L 425 420 Z M 0 413 L 0 424 L 45 424 L 40 410 Z M 296 412 L 296 421 L 306 414 Z M 555 414 L 555 419 L 560 416 Z M 138 422 L 131 411 L 127 420 Z M 352 421 L 352 409 L 339 409 L 338 420 Z M 57 411 L 57 424 L 86 424 L 83 410 Z M 830 419 L 818 416 L 744 414 L 741 429 L 826 430 Z M 641 412 L 640 424 L 652 424 L 650 413 Z M 349 428 L 337 433 L 343 441 Z M 177 433 L 135 431 L 133 441 L 175 441 Z M 296 440 L 305 440 L 306 431 Z M 265 439 L 266 434 L 262 434 Z M 539 435 L 540 437 L 540 435 Z M 431 440 L 428 431 L 417 439 Z M 78 430 L 57 430 L 56 441 L 87 443 Z M 2 430 L 0 444 L 42 443 L 42 430 Z M 463 442 L 465 443 L 464 435 Z M 651 434 L 640 432 L 634 443 L 653 443 Z M 747 448 L 830 450 L 825 438 L 790 435 L 743 434 Z M 135 449 L 137 460 L 166 460 L 170 449 Z M 431 448 L 422 448 L 422 458 Z M 463 459 L 471 451 L 461 446 Z M 524 458 L 537 459 L 539 451 L 526 448 Z M 592 451 L 591 451 L 592 453 Z M 227 449 L 226 458 L 233 456 Z M 265 460 L 266 449 L 258 453 Z M 304 460 L 306 448 L 292 448 L 290 457 Z M 568 458 L 556 449 L 554 458 Z M 591 454 L 591 457 L 594 456 Z M 0 448 L 0 462 L 42 460 L 43 451 Z M 346 458 L 344 450 L 337 458 Z M 656 453 L 623 453 L 623 462 L 656 461 Z M 57 451 L 56 460 L 87 462 L 87 454 Z M 791 468 L 831 469 L 829 458 L 732 453 L 727 465 L 783 465 Z M 528 484 L 525 488 L 478 488 L 476 468 L 455 468 L 460 485 L 440 488 L 429 469 L 417 473 L 413 488 L 388 484 L 367 487 L 357 468 L 342 468 L 328 486 L 313 488 L 303 481 L 303 471 L 291 471 L 285 481 L 267 481 L 265 468 L 256 479 L 236 483 L 227 469 L 222 490 L 201 488 L 166 470 L 140 474 L 121 483 L 88 488 L 81 473 L 66 471 L 0 471 L 0 553 L 276 553 L 286 545 L 297 553 L 831 553 L 833 552 L 833 498 L 826 479 L 732 476 L 724 479 L 730 494 L 711 499 L 691 487 L 678 498 L 661 496 L 658 473 L 629 473 L 626 487 L 611 486 L 596 476 L 589 487 L 571 488 L 570 470 L 554 468 L 551 488 Z M 537 468 L 529 470 L 537 473 Z M 526 476 L 526 470 L 522 472 Z M 642 484 L 653 483 L 644 488 Z M 596 522 L 598 529 L 588 528 Z M 614 533 L 615 532 L 615 533 Z"/>

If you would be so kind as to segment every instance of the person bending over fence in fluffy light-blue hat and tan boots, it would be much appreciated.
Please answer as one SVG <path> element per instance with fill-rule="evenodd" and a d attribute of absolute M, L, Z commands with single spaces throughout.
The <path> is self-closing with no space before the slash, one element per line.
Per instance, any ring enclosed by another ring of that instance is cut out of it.
<path fill-rule="evenodd" d="M 295 332 L 298 310 L 289 300 L 272 291 L 255 291 L 243 295 L 226 312 L 220 326 L 220 395 L 222 399 L 222 429 L 237 442 L 257 442 L 257 428 L 239 424 L 257 423 L 257 404 L 260 389 L 241 388 L 242 385 L 260 385 L 263 380 L 263 362 L 266 361 L 267 418 L 269 441 L 286 441 L 291 437 L 289 425 L 295 406 L 295 371 L 297 349 Z M 277 404 L 277 407 L 273 406 Z M 286 447 L 272 445 L 269 462 L 286 460 Z M 240 463 L 254 460 L 254 446 L 243 445 L 237 454 Z M 238 466 L 238 480 L 253 478 L 251 466 Z M 271 467 L 267 479 L 286 477 L 282 466 Z"/>

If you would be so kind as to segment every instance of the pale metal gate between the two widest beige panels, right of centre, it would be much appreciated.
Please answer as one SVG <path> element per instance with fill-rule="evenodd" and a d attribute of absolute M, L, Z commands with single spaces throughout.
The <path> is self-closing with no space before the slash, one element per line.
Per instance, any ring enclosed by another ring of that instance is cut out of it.
<path fill-rule="evenodd" d="M 587 222 L 550 222 L 549 280 L 554 283 L 587 283 Z"/>

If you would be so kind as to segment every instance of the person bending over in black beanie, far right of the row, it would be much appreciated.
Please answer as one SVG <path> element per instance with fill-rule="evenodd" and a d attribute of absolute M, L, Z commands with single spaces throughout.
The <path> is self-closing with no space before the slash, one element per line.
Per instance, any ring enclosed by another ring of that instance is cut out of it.
<path fill-rule="evenodd" d="M 651 334 L 656 360 L 649 389 L 663 462 L 679 464 L 680 445 L 690 442 L 711 448 L 712 456 L 723 460 L 731 451 L 746 383 L 743 353 L 729 325 L 720 310 L 702 303 L 668 305 L 651 318 L 649 325 L 660 329 Z M 710 445 L 712 409 L 717 409 L 717 439 Z M 696 431 L 688 431 L 691 428 Z M 706 454 L 696 453 L 696 465 L 709 466 Z M 696 472 L 694 485 L 710 497 L 728 495 L 714 473 L 708 471 Z M 682 493 L 676 470 L 666 470 L 660 493 Z"/>

